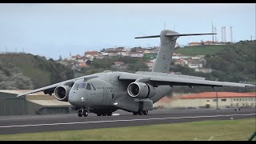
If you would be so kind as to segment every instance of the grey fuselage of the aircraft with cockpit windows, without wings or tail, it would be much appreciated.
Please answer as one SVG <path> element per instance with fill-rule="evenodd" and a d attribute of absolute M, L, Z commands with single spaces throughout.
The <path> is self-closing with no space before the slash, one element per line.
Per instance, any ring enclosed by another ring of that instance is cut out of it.
<path fill-rule="evenodd" d="M 96 110 L 118 109 L 138 111 L 138 99 L 132 98 L 127 92 L 127 86 L 131 81 L 119 80 L 120 74 L 126 72 L 105 72 L 94 74 L 97 78 L 89 80 L 80 79 L 74 82 L 69 94 L 68 102 L 75 107 L 89 107 L 93 112 Z M 90 85 L 90 86 L 88 86 Z M 157 102 L 170 92 L 170 86 L 155 87 L 156 94 L 149 98 Z"/>

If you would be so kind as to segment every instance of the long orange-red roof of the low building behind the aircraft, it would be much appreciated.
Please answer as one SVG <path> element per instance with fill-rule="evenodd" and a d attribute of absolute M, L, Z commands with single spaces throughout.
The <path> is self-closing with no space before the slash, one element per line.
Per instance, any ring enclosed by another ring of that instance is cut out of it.
<path fill-rule="evenodd" d="M 232 93 L 232 92 L 218 92 L 218 98 L 247 98 L 256 97 L 256 93 Z M 205 92 L 198 94 L 187 94 L 179 96 L 180 99 L 193 99 L 193 98 L 216 98 L 216 92 Z"/>

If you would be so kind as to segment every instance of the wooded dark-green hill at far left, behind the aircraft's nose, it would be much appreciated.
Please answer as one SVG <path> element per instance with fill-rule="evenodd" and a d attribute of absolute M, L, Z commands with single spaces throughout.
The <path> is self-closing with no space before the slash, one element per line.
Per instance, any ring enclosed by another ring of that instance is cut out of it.
<path fill-rule="evenodd" d="M 22 74 L 22 76 L 25 76 L 24 78 L 30 78 L 34 89 L 74 78 L 74 73 L 70 68 L 38 55 L 24 53 L 0 54 L 0 62 L 3 76 L 11 78 L 14 74 Z M 18 72 L 12 74 L 12 69 Z M 26 89 L 31 87 L 16 88 Z"/>

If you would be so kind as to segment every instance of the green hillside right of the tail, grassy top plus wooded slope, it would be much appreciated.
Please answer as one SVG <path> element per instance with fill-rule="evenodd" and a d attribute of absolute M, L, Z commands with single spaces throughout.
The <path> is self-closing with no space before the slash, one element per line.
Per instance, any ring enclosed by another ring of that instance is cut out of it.
<path fill-rule="evenodd" d="M 219 81 L 229 82 L 255 81 L 255 40 L 227 43 L 225 46 L 187 46 L 176 50 L 175 53 L 190 56 L 205 55 L 205 67 L 214 70 L 208 76 L 209 79 L 218 78 Z M 191 74 L 192 71 L 185 72 Z"/>

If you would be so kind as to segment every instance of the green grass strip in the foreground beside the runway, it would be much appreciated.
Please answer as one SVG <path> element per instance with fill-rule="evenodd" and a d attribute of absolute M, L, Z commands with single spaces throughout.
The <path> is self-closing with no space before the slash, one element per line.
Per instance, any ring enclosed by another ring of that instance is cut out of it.
<path fill-rule="evenodd" d="M 256 119 L 186 122 L 150 126 L 130 126 L 94 130 L 66 130 L 31 134 L 4 134 L 5 140 L 248 140 L 256 129 Z M 39 127 L 38 127 L 39 128 Z M 255 138 L 253 139 L 256 140 Z"/>

